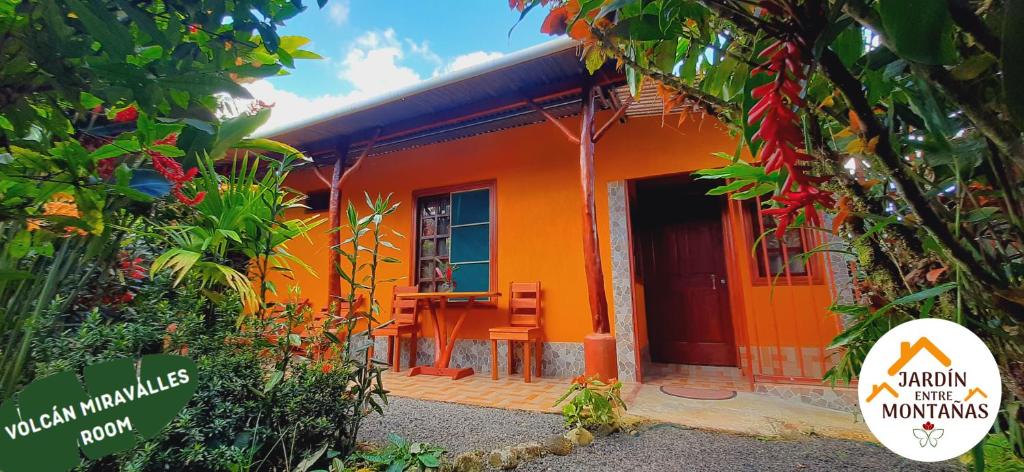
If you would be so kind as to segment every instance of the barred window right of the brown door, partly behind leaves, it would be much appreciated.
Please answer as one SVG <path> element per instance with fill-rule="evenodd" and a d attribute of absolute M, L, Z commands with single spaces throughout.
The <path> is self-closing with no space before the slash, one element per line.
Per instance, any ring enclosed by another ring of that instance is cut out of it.
<path fill-rule="evenodd" d="M 748 206 L 754 241 L 757 247 L 754 248 L 754 259 L 757 261 L 755 267 L 757 276 L 761 278 L 785 277 L 784 265 L 788 261 L 791 276 L 807 276 L 807 263 L 801 254 L 808 251 L 804 231 L 799 228 L 791 228 L 785 231 L 782 241 L 779 242 L 775 235 L 775 218 L 765 215 L 759 210 L 760 202 Z M 760 217 L 760 224 L 758 219 Z M 763 234 L 763 235 L 762 235 Z M 783 246 L 785 251 L 783 252 Z"/>

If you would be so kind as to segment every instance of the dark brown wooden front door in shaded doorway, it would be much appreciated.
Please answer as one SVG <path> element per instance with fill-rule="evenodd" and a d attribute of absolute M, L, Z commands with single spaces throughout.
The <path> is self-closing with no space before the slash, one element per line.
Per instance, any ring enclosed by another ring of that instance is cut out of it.
<path fill-rule="evenodd" d="M 705 191 L 702 184 L 678 179 L 637 186 L 634 227 L 656 362 L 736 364 L 723 201 Z"/>

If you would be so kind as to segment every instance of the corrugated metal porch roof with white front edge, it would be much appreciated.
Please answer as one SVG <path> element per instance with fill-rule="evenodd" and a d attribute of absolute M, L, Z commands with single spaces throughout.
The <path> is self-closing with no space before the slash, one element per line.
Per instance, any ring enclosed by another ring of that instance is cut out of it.
<path fill-rule="evenodd" d="M 550 41 L 264 135 L 311 155 L 349 143 L 348 155 L 357 156 L 380 128 L 377 156 L 543 121 L 526 98 L 555 117 L 572 115 L 583 84 L 623 81 L 610 68 L 591 76 L 578 49 Z"/>

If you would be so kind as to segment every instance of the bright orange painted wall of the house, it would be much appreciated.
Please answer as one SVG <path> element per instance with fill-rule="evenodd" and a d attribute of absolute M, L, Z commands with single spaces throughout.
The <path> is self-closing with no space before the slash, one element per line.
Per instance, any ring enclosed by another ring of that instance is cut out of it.
<path fill-rule="evenodd" d="M 598 123 L 603 123 L 602 118 L 598 117 Z M 578 122 L 578 118 L 565 120 L 571 129 L 579 129 Z M 734 148 L 735 141 L 716 122 L 698 118 L 687 120 L 681 128 L 663 127 L 660 118 L 633 118 L 625 125 L 616 124 L 597 144 L 595 197 L 609 306 L 612 302 L 608 182 L 720 166 L 724 162 L 712 157 L 712 153 Z M 393 199 L 401 202 L 401 208 L 386 222 L 407 235 L 406 240 L 396 242 L 401 252 L 395 256 L 402 263 L 386 266 L 381 276 L 408 277 L 412 275 L 411 260 L 415 257 L 411 212 L 415 207 L 413 192 L 490 179 L 497 181 L 497 211 L 493 217 L 493 221 L 497 222 L 498 240 L 497 290 L 507 291 L 508 284 L 513 281 L 541 281 L 547 340 L 582 341 L 584 335 L 591 331 L 591 326 L 582 249 L 579 147 L 569 143 L 554 126 L 526 126 L 372 158 L 346 182 L 342 200 L 347 202 L 352 199 L 360 212 L 366 211 L 362 203 L 365 191 L 373 196 L 393 192 Z M 290 184 L 300 190 L 325 187 L 309 170 L 296 172 Z M 319 278 L 299 274 L 298 283 L 303 296 L 321 306 L 327 298 L 328 240 L 326 232 L 319 230 L 310 238 L 311 244 L 295 241 L 289 249 L 318 272 Z M 736 254 L 749 257 L 751 253 L 745 247 L 745 240 L 740 240 L 737 233 Z M 743 280 L 749 283 L 750 265 L 745 260 L 733 265 L 744 273 Z M 284 287 L 284 281 L 278 283 L 279 287 Z M 749 316 L 766 317 L 765 306 L 770 304 L 776 312 L 788 313 L 783 316 L 788 328 L 780 327 L 793 335 L 786 340 L 807 346 L 819 346 L 822 340 L 825 343 L 830 340 L 830 336 L 805 334 L 806 330 L 801 328 L 812 317 L 820 315 L 819 310 L 806 309 L 812 303 L 807 294 L 800 291 L 790 294 L 790 290 L 777 288 L 772 303 L 766 298 L 765 289 L 755 289 L 749 284 L 743 286 L 745 301 L 740 309 Z M 813 291 L 821 295 L 816 295 L 813 305 L 823 309 L 828 304 L 827 290 L 824 287 L 819 289 Z M 802 290 L 806 292 L 806 289 Z M 784 294 L 781 301 L 780 292 Z M 388 298 L 390 287 L 384 287 L 383 293 L 387 294 L 383 298 Z M 642 293 L 638 291 L 637 295 Z M 787 297 L 796 297 L 796 304 L 786 302 Z M 641 312 L 638 329 L 641 337 L 645 338 L 642 296 L 638 298 Z M 383 312 L 388 312 L 389 300 L 382 300 L 382 305 Z M 504 303 L 498 305 L 499 308 L 475 310 L 467 319 L 464 333 L 472 338 L 485 338 L 486 328 L 506 319 Z M 737 337 L 737 343 L 754 334 L 755 326 L 761 328 L 756 323 L 748 325 L 748 335 Z M 430 331 L 429 327 L 425 328 L 426 335 Z"/>

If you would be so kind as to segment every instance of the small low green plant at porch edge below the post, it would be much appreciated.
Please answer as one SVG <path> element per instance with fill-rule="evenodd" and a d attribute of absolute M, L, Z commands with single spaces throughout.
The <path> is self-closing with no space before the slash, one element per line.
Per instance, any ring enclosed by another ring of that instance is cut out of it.
<path fill-rule="evenodd" d="M 584 376 L 572 379 L 568 391 L 555 401 L 555 406 L 566 399 L 562 406 L 562 418 L 569 428 L 596 428 L 599 426 L 614 426 L 618 423 L 622 412 L 626 411 L 626 402 L 622 397 L 623 383 L 617 380 L 611 383 L 601 382 L 597 376 Z"/>

